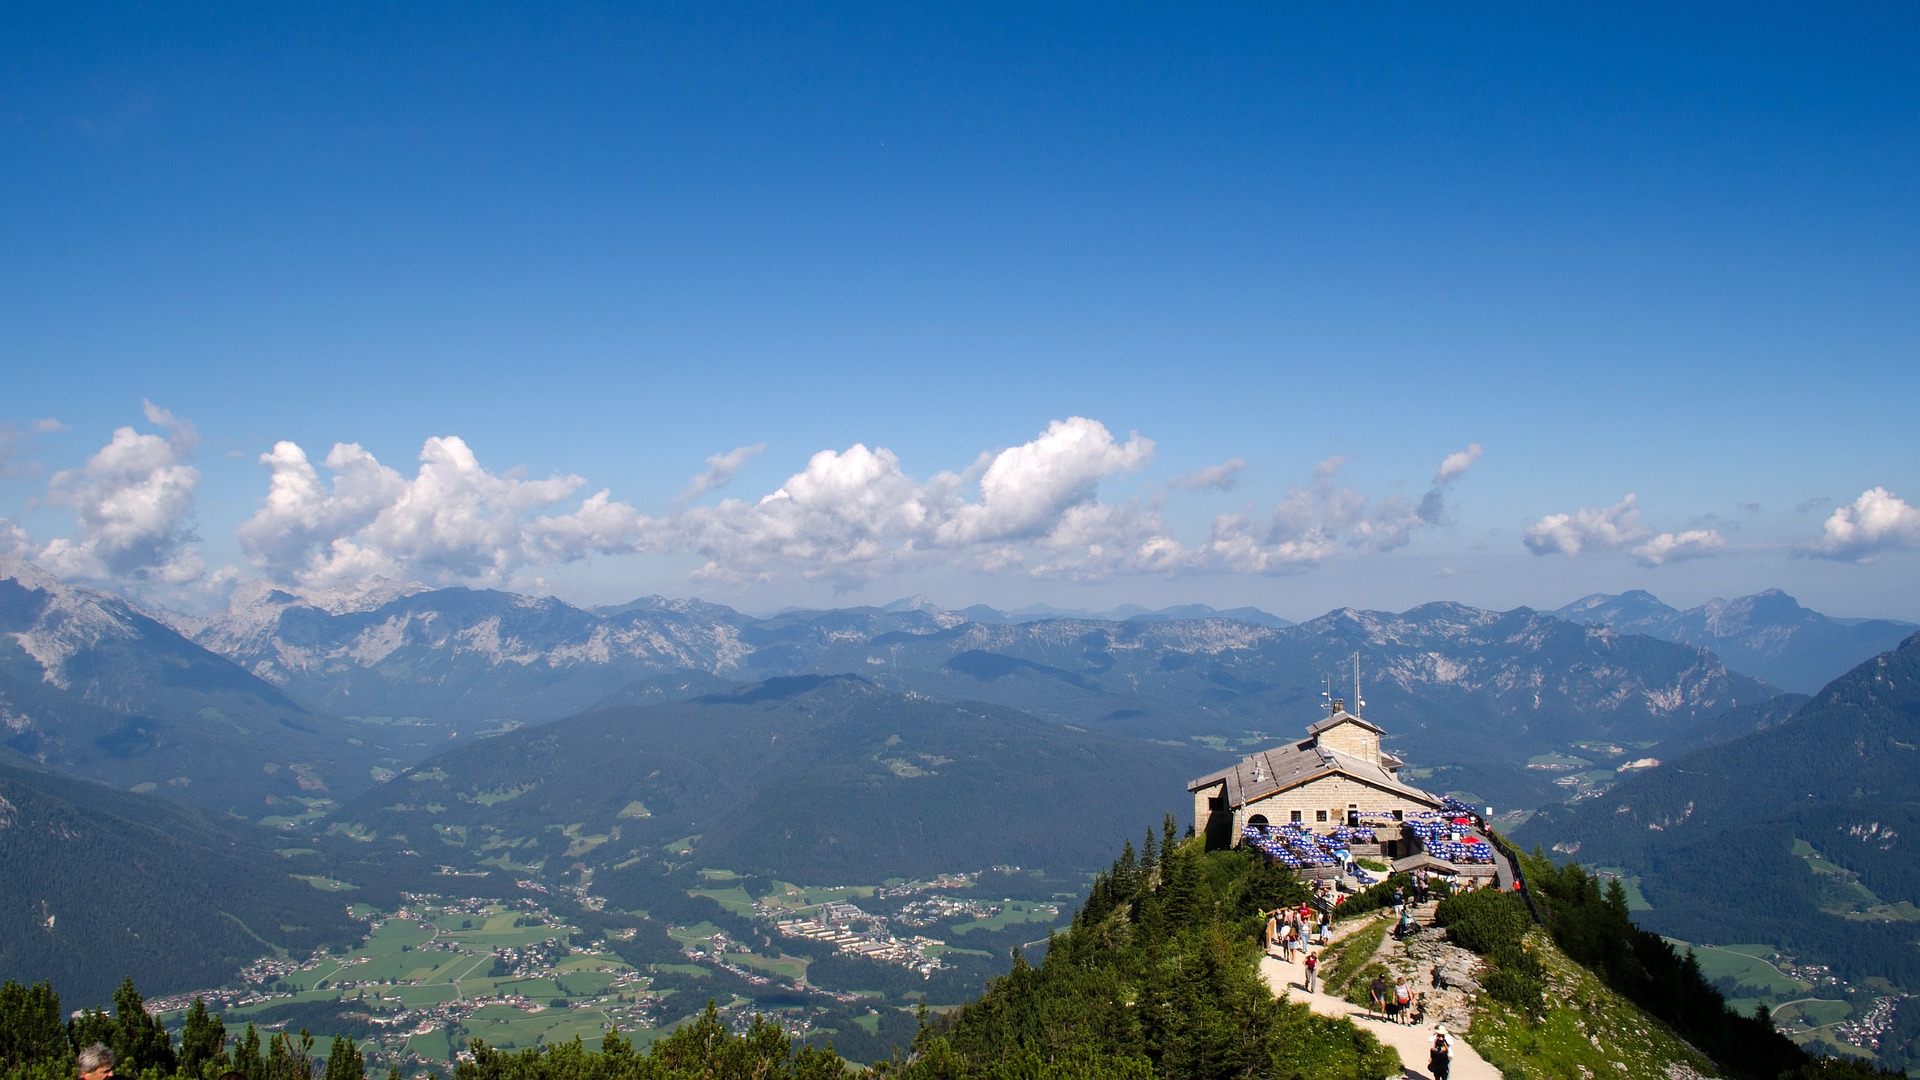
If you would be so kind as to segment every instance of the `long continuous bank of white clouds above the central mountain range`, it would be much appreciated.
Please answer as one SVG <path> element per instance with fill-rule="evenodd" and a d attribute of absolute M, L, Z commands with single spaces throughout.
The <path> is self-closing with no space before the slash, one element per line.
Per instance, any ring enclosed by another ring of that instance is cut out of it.
<path fill-rule="evenodd" d="M 689 492 L 720 486 L 758 452 L 710 457 Z M 1471 463 L 1476 450 L 1463 454 Z M 282 442 L 261 455 L 267 498 L 238 540 L 269 577 L 309 586 L 369 575 L 495 582 L 593 553 L 670 552 L 695 555 L 701 580 L 799 573 L 852 588 L 929 565 L 1089 580 L 1290 573 L 1340 548 L 1386 550 L 1444 519 L 1425 500 L 1369 505 L 1334 484 L 1340 459 L 1329 459 L 1271 513 L 1223 515 L 1204 542 L 1183 544 L 1158 498 L 1100 498 L 1104 482 L 1152 457 L 1154 442 L 1139 432 L 1119 438 L 1098 421 L 1068 417 L 958 473 L 914 477 L 891 450 L 854 444 L 814 454 L 756 500 L 685 505 L 682 496 L 670 513 L 649 517 L 609 492 L 580 500 L 580 477 L 490 473 L 451 436 L 426 440 L 413 477 L 355 444 L 334 446 L 317 467 Z M 1455 459 L 1442 461 L 1436 492 L 1463 473 Z M 1196 484 L 1223 486 L 1240 467 L 1202 469 Z"/>

